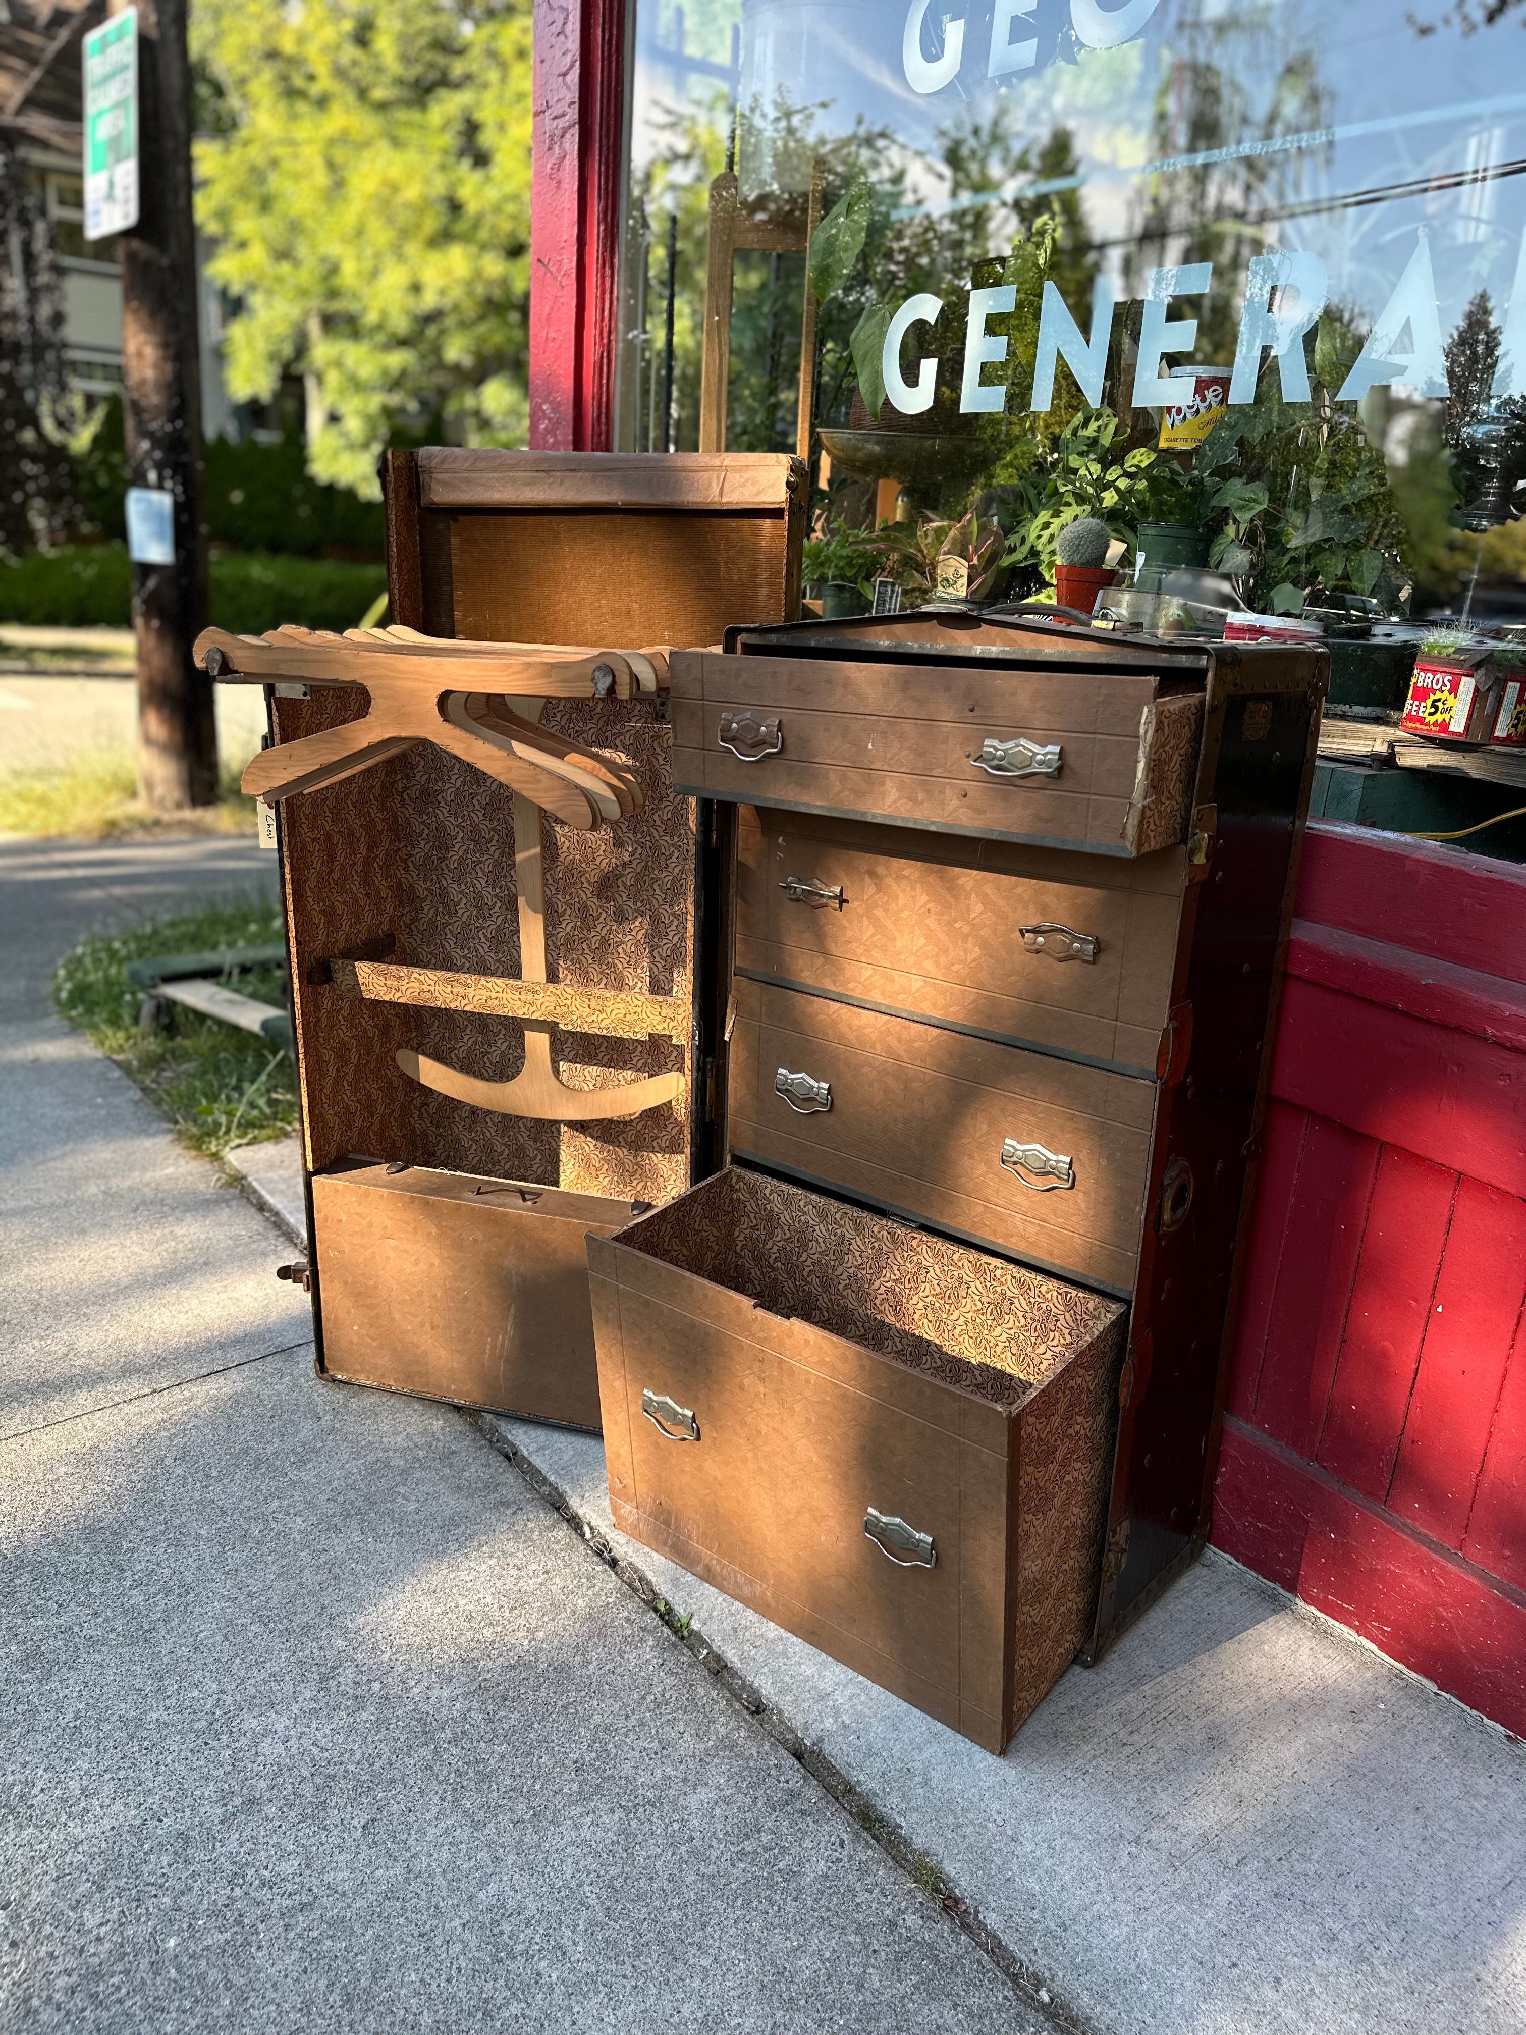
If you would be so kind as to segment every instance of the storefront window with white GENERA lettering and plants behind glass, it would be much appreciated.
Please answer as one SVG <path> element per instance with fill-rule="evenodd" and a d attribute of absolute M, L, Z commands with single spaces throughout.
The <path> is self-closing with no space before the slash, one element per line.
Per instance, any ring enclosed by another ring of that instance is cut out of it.
<path fill-rule="evenodd" d="M 637 0 L 621 444 L 800 450 L 816 578 L 907 604 L 1074 551 L 1526 621 L 1522 59 L 1491 0 Z"/>

